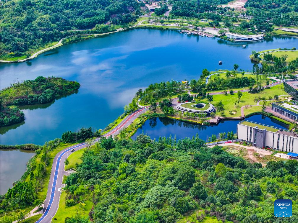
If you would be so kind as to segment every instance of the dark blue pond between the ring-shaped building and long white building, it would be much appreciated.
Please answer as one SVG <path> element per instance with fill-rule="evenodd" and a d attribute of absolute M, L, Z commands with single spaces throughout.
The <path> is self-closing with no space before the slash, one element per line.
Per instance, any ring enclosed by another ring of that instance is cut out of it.
<path fill-rule="evenodd" d="M 253 115 L 246 118 L 246 120 L 288 129 L 284 123 L 261 114 Z M 172 138 L 176 135 L 177 139 L 183 139 L 185 137 L 192 138 L 198 133 L 199 138 L 208 142 L 208 137 L 211 137 L 212 134 L 218 135 L 219 133 L 228 133 L 228 131 L 236 133 L 239 122 L 239 120 L 221 120 L 217 125 L 207 126 L 164 117 L 150 118 L 145 121 L 141 128 L 138 128 L 131 138 L 136 139 L 139 134 L 143 133 L 150 136 L 151 139 L 155 138 L 156 140 L 158 140 L 159 136 L 169 137 L 170 135 L 172 135 Z"/>

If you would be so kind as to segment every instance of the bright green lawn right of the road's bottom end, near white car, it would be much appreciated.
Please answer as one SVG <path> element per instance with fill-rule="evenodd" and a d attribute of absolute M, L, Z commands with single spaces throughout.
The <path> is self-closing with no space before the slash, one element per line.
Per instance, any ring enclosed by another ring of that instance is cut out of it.
<path fill-rule="evenodd" d="M 92 208 L 93 203 L 89 200 L 82 200 L 82 202 L 86 203 L 86 206 L 84 208 L 84 210 L 82 209 L 82 206 L 80 206 L 79 204 L 76 204 L 75 206 L 72 207 L 66 207 L 65 206 L 65 198 L 66 198 L 66 192 L 62 191 L 61 197 L 60 197 L 60 201 L 59 201 L 59 208 L 57 210 L 57 213 L 55 214 L 55 216 L 53 216 L 53 218 L 57 218 L 57 220 L 53 221 L 53 222 L 64 222 L 64 219 L 66 217 L 72 217 L 72 216 L 76 216 L 77 213 L 79 213 L 82 217 L 86 217 L 89 214 L 89 211 Z"/>

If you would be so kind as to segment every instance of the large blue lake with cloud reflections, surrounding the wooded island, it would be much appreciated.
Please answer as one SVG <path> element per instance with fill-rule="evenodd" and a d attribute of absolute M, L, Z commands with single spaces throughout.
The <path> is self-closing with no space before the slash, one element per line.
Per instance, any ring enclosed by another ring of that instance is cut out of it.
<path fill-rule="evenodd" d="M 198 79 L 208 70 L 251 70 L 252 50 L 292 48 L 295 37 L 272 37 L 256 43 L 227 42 L 170 30 L 134 29 L 63 45 L 37 58 L 0 64 L 0 89 L 14 80 L 59 76 L 80 82 L 77 92 L 41 106 L 21 107 L 25 121 L 0 128 L 0 144 L 35 143 L 61 137 L 81 127 L 105 128 L 139 88 L 160 81 Z M 218 65 L 222 60 L 223 65 Z"/>

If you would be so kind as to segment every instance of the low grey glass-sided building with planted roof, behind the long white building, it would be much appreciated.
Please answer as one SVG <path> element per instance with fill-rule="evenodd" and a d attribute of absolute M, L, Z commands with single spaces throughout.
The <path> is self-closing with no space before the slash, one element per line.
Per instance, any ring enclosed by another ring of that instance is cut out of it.
<path fill-rule="evenodd" d="M 297 121 L 298 106 L 289 101 L 274 102 L 271 105 L 271 109 L 273 112 L 277 112 L 291 120 Z"/>

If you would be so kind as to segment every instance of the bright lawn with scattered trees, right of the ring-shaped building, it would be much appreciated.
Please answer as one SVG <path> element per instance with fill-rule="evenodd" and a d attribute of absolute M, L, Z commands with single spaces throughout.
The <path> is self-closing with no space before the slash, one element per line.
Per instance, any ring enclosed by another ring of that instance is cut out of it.
<path fill-rule="evenodd" d="M 215 105 L 216 102 L 222 100 L 224 104 L 224 112 L 227 117 L 240 117 L 241 116 L 241 106 L 244 105 L 255 105 L 255 98 L 268 98 L 269 96 L 273 97 L 274 95 L 285 95 L 285 91 L 282 89 L 282 85 L 276 85 L 270 89 L 265 89 L 259 93 L 251 94 L 249 92 L 243 92 L 242 97 L 240 98 L 239 106 L 234 106 L 234 102 L 237 100 L 237 94 L 234 95 L 213 95 L 213 101 L 211 102 Z M 230 110 L 236 110 L 236 114 L 229 114 Z"/>

